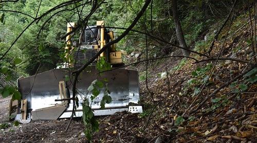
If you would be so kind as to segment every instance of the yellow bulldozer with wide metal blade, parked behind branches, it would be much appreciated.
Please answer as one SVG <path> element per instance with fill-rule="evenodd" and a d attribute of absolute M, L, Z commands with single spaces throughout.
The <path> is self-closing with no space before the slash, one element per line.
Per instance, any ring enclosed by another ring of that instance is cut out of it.
<path fill-rule="evenodd" d="M 67 33 L 76 27 L 75 23 L 67 23 Z M 114 32 L 104 27 L 104 21 L 97 21 L 95 26 L 87 26 L 80 34 L 78 48 L 72 48 L 71 35 L 67 35 L 65 47 L 66 53 L 72 53 L 72 62 L 64 64 L 64 68 L 56 68 L 45 71 L 34 76 L 19 78 L 18 88 L 22 94 L 22 100 L 18 101 L 17 108 L 10 102 L 10 115 L 12 109 L 16 109 L 15 120 L 30 122 L 31 120 L 55 120 L 59 118 L 69 118 L 72 113 L 72 82 L 65 80 L 71 75 L 71 68 L 76 69 L 82 66 L 87 60 L 91 59 L 104 47 L 105 43 L 114 40 Z M 74 51 L 72 51 L 74 50 Z M 68 51 L 68 52 L 67 52 Z M 72 52 L 71 52 L 72 51 Z M 68 56 L 68 55 L 66 55 Z M 112 66 L 122 65 L 122 53 L 116 51 L 115 45 L 108 47 L 100 57 L 88 66 L 79 76 L 77 83 L 78 108 L 76 117 L 81 117 L 83 100 L 87 99 L 91 103 L 91 108 L 96 116 L 111 115 L 116 112 L 128 111 L 141 113 L 142 106 L 139 105 L 139 78 L 138 71 L 118 68 L 109 70 L 99 76 L 95 64 L 104 57 L 106 62 Z M 112 97 L 111 103 L 106 103 L 105 108 L 101 109 L 100 102 L 104 91 L 100 91 L 93 101 L 87 89 L 91 82 L 99 79 L 108 80 L 108 90 Z"/>

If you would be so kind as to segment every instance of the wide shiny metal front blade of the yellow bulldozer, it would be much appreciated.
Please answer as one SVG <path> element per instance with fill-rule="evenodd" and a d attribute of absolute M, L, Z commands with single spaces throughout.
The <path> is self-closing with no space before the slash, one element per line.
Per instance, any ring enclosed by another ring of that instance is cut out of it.
<path fill-rule="evenodd" d="M 51 108 L 58 109 L 59 113 L 61 112 L 60 108 L 53 108 L 63 104 L 61 101 L 55 101 L 56 99 L 61 99 L 59 90 L 60 81 L 69 80 L 67 81 L 66 87 L 69 89 L 70 95 L 72 96 L 72 70 L 74 70 L 74 68 L 52 69 L 38 75 L 18 80 L 22 99 L 27 99 L 27 114 L 30 113 L 30 115 L 32 115 L 32 120 L 56 119 L 57 116 L 54 116 L 49 112 L 51 112 Z M 107 87 L 110 91 L 112 102 L 106 103 L 104 109 L 101 109 L 100 106 L 105 92 L 104 89 L 100 90 L 100 94 L 93 101 L 90 99 L 91 93 L 87 91 L 87 88 L 95 79 L 107 79 Z M 76 117 L 82 116 L 82 103 L 85 99 L 88 99 L 89 103 L 91 103 L 91 108 L 94 110 L 95 115 L 111 115 L 119 111 L 128 111 L 129 105 L 139 104 L 139 82 L 138 71 L 136 70 L 120 68 L 106 71 L 99 75 L 95 66 L 88 66 L 79 75 L 76 88 L 76 94 L 79 101 L 79 106 L 77 107 L 75 114 Z M 67 108 L 65 108 L 60 116 L 58 115 L 59 118 L 69 118 L 71 116 L 73 108 L 72 100 L 68 103 L 66 102 L 66 105 Z"/>

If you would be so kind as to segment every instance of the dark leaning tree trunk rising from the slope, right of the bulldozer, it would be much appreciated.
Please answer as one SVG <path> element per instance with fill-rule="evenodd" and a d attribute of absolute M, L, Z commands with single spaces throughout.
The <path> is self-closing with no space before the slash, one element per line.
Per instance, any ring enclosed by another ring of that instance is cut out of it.
<path fill-rule="evenodd" d="M 172 1 L 172 12 L 173 12 L 173 20 L 174 20 L 174 25 L 176 29 L 176 35 L 177 35 L 177 40 L 179 42 L 180 47 L 183 47 L 185 49 L 182 49 L 183 56 L 189 56 L 189 49 L 187 46 L 187 43 L 185 41 L 182 29 L 181 29 L 181 24 L 178 19 L 178 12 L 177 12 L 177 0 Z"/>

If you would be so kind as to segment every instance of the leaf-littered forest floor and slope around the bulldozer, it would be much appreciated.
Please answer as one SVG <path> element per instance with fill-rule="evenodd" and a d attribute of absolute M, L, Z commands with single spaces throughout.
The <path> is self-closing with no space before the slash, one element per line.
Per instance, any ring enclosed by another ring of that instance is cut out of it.
<path fill-rule="evenodd" d="M 247 21 L 241 19 L 243 25 Z M 249 23 L 244 27 L 232 24 L 231 29 L 238 31 L 229 33 L 223 48 L 224 39 L 215 42 L 211 55 L 217 56 L 221 51 L 222 57 L 249 60 L 252 54 L 249 28 Z M 226 33 L 222 34 L 224 37 Z M 250 67 L 223 60 L 194 62 L 181 58 L 152 61 L 148 69 L 149 90 L 145 83 L 145 63 L 130 67 L 140 72 L 140 102 L 144 111 L 98 117 L 100 131 L 94 135 L 93 142 L 257 142 L 256 82 L 251 84 L 247 76 L 242 76 L 212 95 Z M 198 95 L 205 81 L 205 88 Z M 195 111 L 209 95 L 212 96 Z M 1 123 L 8 119 L 8 100 L 0 99 Z M 33 121 L 18 127 L 10 125 L 0 131 L 0 142 L 86 142 L 81 119 L 72 121 L 68 132 L 64 132 L 67 123 L 68 120 L 62 119 Z"/>

